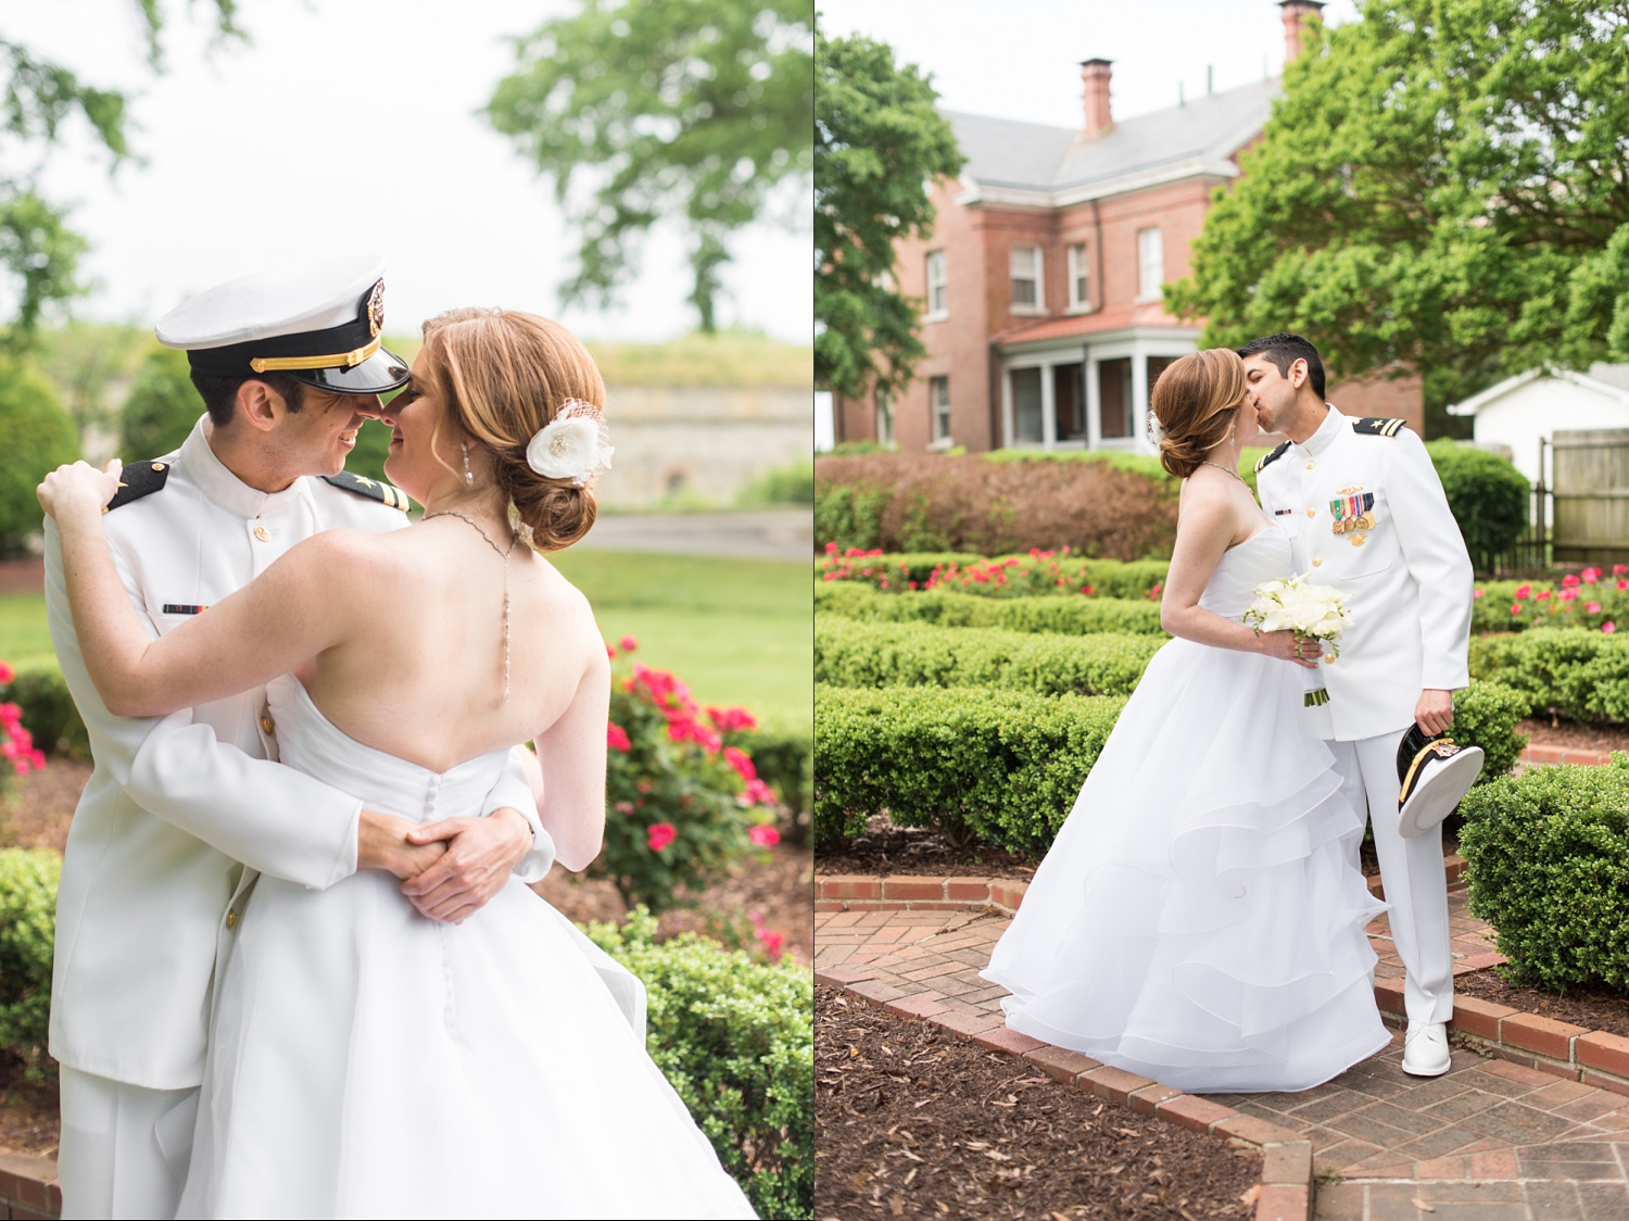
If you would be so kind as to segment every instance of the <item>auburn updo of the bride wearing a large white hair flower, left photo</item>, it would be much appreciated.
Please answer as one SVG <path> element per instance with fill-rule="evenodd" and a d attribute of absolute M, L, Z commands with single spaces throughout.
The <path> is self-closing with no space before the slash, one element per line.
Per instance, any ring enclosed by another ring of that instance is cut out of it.
<path fill-rule="evenodd" d="M 595 523 L 595 496 L 526 463 L 526 443 L 567 399 L 604 408 L 606 386 L 588 350 L 547 318 L 508 310 L 453 310 L 424 324 L 425 373 L 446 416 L 495 456 L 494 479 L 515 505 L 521 540 L 559 551 Z M 435 448 L 437 460 L 463 478 Z M 456 456 L 456 455 L 454 455 Z"/>

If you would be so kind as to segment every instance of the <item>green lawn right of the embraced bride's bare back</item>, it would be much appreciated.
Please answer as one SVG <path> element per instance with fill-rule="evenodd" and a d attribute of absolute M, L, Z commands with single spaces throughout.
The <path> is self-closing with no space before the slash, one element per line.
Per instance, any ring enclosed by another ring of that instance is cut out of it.
<path fill-rule="evenodd" d="M 673 670 L 702 704 L 744 704 L 766 725 L 810 732 L 814 603 L 810 564 L 567 551 L 554 559 L 595 606 L 608 641 Z"/>

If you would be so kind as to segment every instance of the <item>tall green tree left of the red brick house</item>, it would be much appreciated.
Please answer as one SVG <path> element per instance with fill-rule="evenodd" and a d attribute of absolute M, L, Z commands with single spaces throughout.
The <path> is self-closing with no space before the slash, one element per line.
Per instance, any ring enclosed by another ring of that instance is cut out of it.
<path fill-rule="evenodd" d="M 845 398 L 901 391 L 925 350 L 894 243 L 933 231 L 929 186 L 966 163 L 935 98 L 888 44 L 814 31 L 814 383 Z"/>

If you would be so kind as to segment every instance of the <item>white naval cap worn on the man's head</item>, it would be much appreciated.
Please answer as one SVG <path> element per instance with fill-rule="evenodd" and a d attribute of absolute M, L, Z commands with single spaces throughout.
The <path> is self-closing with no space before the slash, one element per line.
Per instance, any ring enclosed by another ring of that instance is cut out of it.
<path fill-rule="evenodd" d="M 407 381 L 383 347 L 384 259 L 352 254 L 241 275 L 182 302 L 158 323 L 207 377 L 282 373 L 321 390 L 378 395 Z"/>

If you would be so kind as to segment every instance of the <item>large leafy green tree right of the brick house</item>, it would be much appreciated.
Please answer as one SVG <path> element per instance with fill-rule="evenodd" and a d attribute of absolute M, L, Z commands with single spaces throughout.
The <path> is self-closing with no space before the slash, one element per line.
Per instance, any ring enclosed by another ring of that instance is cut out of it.
<path fill-rule="evenodd" d="M 1629 359 L 1629 3 L 1357 3 L 1310 23 L 1168 308 L 1419 372 L 1432 432 L 1500 377 Z"/>

